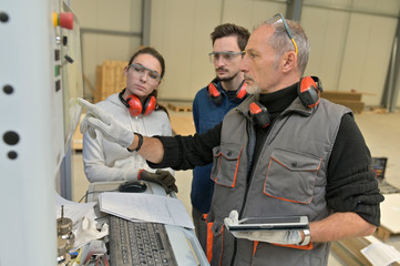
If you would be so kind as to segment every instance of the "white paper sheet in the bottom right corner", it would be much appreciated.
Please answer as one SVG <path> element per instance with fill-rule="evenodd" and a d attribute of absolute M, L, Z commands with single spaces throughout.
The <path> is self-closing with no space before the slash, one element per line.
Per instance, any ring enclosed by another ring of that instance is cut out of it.
<path fill-rule="evenodd" d="M 361 249 L 361 253 L 373 266 L 387 266 L 400 262 L 400 253 L 384 243 L 373 243 Z"/>

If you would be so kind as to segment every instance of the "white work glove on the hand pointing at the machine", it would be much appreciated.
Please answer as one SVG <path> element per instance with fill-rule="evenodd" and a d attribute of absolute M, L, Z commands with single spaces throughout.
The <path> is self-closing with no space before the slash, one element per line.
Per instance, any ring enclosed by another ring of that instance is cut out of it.
<path fill-rule="evenodd" d="M 92 139 L 96 137 L 95 131 L 99 130 L 103 136 L 110 142 L 115 142 L 123 147 L 129 147 L 135 135 L 133 132 L 127 131 L 117 121 L 98 108 L 96 105 L 79 98 L 79 104 L 88 110 L 86 116 L 81 122 L 81 133 L 89 132 Z"/>

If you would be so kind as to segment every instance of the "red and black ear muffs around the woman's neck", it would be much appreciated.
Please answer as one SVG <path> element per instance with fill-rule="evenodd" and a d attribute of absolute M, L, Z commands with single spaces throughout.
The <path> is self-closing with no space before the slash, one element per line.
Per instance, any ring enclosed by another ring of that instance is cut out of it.
<path fill-rule="evenodd" d="M 148 115 L 155 110 L 157 105 L 155 96 L 148 95 L 142 104 L 141 100 L 134 94 L 130 94 L 125 100 L 122 96 L 125 90 L 126 89 L 119 93 L 119 98 L 121 102 L 129 109 L 132 116 L 137 116 L 140 114 Z"/>

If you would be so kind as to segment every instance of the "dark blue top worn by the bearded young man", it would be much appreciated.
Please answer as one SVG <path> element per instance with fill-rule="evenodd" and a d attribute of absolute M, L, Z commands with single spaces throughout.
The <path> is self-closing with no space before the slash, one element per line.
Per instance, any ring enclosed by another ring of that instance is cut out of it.
<path fill-rule="evenodd" d="M 225 114 L 245 99 L 237 99 L 236 91 L 225 91 L 220 82 L 217 83 L 217 89 L 223 95 L 220 105 L 212 101 L 207 86 L 199 90 L 193 101 L 193 120 L 198 134 L 219 124 Z M 214 182 L 209 178 L 212 166 L 213 164 L 208 164 L 193 170 L 191 201 L 192 205 L 204 214 L 209 211 L 214 192 Z"/>

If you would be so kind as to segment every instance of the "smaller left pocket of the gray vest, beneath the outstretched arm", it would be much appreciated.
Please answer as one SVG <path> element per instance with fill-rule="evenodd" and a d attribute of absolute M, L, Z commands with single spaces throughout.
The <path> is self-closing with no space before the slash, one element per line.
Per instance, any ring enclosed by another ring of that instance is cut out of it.
<path fill-rule="evenodd" d="M 213 149 L 214 158 L 211 178 L 216 184 L 235 187 L 242 149 L 240 145 L 232 144 Z"/>

